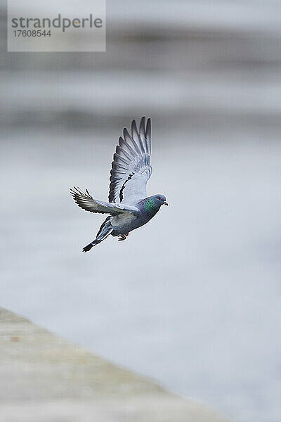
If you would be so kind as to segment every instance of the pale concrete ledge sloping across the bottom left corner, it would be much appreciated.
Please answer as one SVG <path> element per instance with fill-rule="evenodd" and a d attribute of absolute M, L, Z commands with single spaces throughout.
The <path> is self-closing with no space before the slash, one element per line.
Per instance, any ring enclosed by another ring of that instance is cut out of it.
<path fill-rule="evenodd" d="M 226 422 L 0 308 L 0 421 Z"/>

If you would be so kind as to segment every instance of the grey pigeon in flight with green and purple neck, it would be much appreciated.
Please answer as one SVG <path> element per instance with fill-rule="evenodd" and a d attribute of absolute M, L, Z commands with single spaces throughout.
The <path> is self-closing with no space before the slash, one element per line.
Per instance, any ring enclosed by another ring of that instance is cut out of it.
<path fill-rule="evenodd" d="M 109 214 L 96 235 L 96 239 L 83 248 L 88 252 L 107 236 L 118 236 L 126 240 L 130 231 L 138 229 L 154 217 L 162 205 L 168 205 L 164 195 L 147 196 L 146 184 L 152 173 L 151 120 L 141 118 L 139 128 L 136 120 L 131 123 L 131 134 L 125 128 L 123 137 L 113 155 L 110 171 L 110 192 L 108 202 L 97 200 L 89 191 L 78 187 L 70 188 L 74 201 L 89 212 Z"/>

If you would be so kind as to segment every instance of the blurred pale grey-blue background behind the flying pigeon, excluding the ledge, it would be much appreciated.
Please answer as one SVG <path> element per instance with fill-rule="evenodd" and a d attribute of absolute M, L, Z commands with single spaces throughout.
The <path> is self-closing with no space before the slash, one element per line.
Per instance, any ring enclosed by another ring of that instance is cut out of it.
<path fill-rule="evenodd" d="M 7 53 L 1 0 L 1 303 L 240 422 L 281 417 L 280 1 L 107 0 L 106 53 Z M 152 118 L 126 242 L 104 217 L 123 127 Z"/>

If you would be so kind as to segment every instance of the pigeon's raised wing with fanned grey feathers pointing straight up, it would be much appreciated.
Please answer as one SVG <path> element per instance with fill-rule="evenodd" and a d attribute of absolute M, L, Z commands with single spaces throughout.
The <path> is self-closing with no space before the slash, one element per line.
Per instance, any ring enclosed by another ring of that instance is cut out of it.
<path fill-rule="evenodd" d="M 148 119 L 145 126 L 145 117 L 142 117 L 138 129 L 133 120 L 131 134 L 124 129 L 113 155 L 108 196 L 111 203 L 136 204 L 146 198 L 146 184 L 152 173 L 150 154 L 151 121 Z"/>

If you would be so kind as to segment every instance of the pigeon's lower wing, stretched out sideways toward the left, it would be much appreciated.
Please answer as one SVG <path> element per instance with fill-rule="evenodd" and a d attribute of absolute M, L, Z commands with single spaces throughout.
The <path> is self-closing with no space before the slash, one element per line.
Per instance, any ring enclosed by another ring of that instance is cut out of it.
<path fill-rule="evenodd" d="M 120 213 L 130 213 L 133 215 L 138 215 L 139 210 L 137 207 L 131 207 L 124 204 L 114 204 L 114 203 L 107 203 L 102 200 L 94 199 L 89 191 L 86 189 L 86 193 L 81 191 L 81 189 L 70 188 L 70 193 L 72 194 L 74 201 L 77 205 L 83 210 L 90 211 L 90 212 L 100 212 L 101 214 L 110 214 L 110 215 L 117 215 Z"/>

